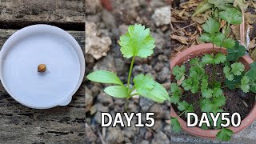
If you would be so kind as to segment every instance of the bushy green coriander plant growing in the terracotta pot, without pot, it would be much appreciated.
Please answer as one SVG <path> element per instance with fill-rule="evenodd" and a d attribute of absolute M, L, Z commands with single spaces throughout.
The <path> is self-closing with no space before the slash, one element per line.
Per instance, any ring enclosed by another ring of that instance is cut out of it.
<path fill-rule="evenodd" d="M 202 58 L 190 59 L 189 70 L 186 70 L 185 65 L 174 66 L 172 74 L 176 82 L 172 82 L 170 85 L 170 101 L 174 106 L 177 106 L 179 110 L 178 117 L 182 114 L 185 114 L 186 117 L 186 113 L 194 112 L 194 106 L 199 105 L 201 112 L 206 112 L 210 120 L 210 127 L 203 125 L 201 128 L 203 130 L 221 129 L 216 137 L 228 141 L 233 131 L 220 125 L 222 123 L 220 117 L 218 118 L 218 125 L 214 127 L 210 112 L 214 114 L 224 112 L 222 109 L 226 104 L 226 97 L 222 90 L 224 87 L 228 87 L 230 90 L 238 88 L 244 93 L 256 93 L 256 62 L 250 64 L 250 70 L 246 71 L 242 62 L 238 61 L 240 57 L 246 54 L 245 46 L 240 45 L 233 38 L 229 38 L 230 25 L 241 24 L 242 13 L 230 5 L 230 2 L 223 5 L 221 3 L 224 1 L 209 0 L 208 2 L 213 3 L 208 5 L 210 8 L 215 7 L 212 11 L 212 18 L 208 18 L 206 23 L 202 25 L 204 33 L 201 34 L 200 40 L 212 43 L 212 52 L 211 54 L 204 54 Z M 226 22 L 225 26 L 221 27 L 221 21 Z M 216 50 L 215 46 L 226 48 L 228 54 L 222 54 L 221 49 Z M 206 66 L 209 65 L 213 67 L 211 77 L 206 74 L 205 70 Z M 224 66 L 222 73 L 226 79 L 223 79 L 223 82 L 216 80 L 218 73 L 216 66 L 219 65 Z M 194 103 L 182 100 L 188 94 L 199 94 L 200 100 Z M 181 130 L 178 117 L 171 118 L 172 129 L 176 132 Z"/>

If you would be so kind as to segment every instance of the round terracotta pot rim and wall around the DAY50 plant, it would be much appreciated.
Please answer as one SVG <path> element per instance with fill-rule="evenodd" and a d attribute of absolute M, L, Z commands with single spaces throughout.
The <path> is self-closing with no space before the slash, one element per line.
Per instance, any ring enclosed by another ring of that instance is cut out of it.
<path fill-rule="evenodd" d="M 216 48 L 215 51 L 218 51 L 219 48 Z M 197 46 L 191 46 L 190 48 L 182 51 L 181 53 L 177 54 L 175 58 L 172 58 L 170 60 L 170 70 L 172 71 L 173 67 L 178 65 L 182 65 L 183 62 L 186 62 L 187 59 L 194 58 L 199 55 L 203 54 L 210 54 L 212 51 L 212 44 L 201 44 Z M 227 54 L 226 49 L 221 49 L 220 52 Z M 239 62 L 242 62 L 246 70 L 250 69 L 250 63 L 254 62 L 249 56 L 245 55 L 242 58 L 239 59 Z M 173 76 L 171 76 L 172 80 Z M 178 115 L 174 111 L 174 108 L 170 106 L 170 116 L 171 117 L 177 117 Z M 245 129 L 247 126 L 250 126 L 252 122 L 256 119 L 256 102 L 254 102 L 254 106 L 252 110 L 250 110 L 250 114 L 244 118 L 241 122 L 241 125 L 238 127 L 230 126 L 229 129 L 233 130 L 234 133 L 238 133 L 238 131 Z M 214 139 L 216 138 L 216 134 L 219 130 L 202 130 L 199 127 L 187 127 L 186 121 L 184 121 L 182 118 L 178 118 L 178 122 L 180 122 L 180 125 L 182 126 L 182 129 L 186 132 L 201 137 L 201 138 L 210 138 Z"/>

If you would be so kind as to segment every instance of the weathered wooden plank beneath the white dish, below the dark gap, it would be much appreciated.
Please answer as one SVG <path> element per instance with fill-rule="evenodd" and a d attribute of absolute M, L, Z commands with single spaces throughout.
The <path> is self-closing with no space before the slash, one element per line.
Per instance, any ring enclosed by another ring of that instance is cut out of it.
<path fill-rule="evenodd" d="M 15 31 L 0 29 L 0 47 Z M 84 49 L 84 32 L 70 34 Z M 85 117 L 85 82 L 68 106 L 49 110 L 22 106 L 0 85 L 0 143 L 85 143 Z"/>

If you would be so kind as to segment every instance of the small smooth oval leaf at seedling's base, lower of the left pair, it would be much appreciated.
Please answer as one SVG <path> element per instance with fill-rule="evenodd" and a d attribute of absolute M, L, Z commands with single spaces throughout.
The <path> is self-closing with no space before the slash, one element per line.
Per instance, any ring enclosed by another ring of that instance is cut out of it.
<path fill-rule="evenodd" d="M 126 86 L 109 86 L 106 87 L 104 92 L 116 98 L 127 98 L 129 96 Z"/>

